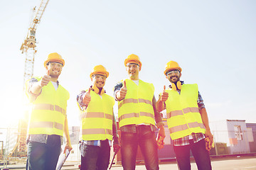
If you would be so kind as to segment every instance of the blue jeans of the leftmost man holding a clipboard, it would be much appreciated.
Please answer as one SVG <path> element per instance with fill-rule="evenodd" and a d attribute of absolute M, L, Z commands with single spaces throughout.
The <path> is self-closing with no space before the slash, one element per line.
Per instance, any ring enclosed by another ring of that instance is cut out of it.
<path fill-rule="evenodd" d="M 27 170 L 55 170 L 60 155 L 60 136 L 48 135 L 47 144 L 28 142 Z"/>

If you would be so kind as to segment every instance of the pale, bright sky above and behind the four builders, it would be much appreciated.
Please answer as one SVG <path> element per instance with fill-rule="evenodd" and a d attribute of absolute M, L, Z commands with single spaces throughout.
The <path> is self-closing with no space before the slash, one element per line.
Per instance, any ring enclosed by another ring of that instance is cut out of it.
<path fill-rule="evenodd" d="M 39 0 L 1 1 L 0 128 L 23 114 L 25 55 L 19 50 Z M 113 96 L 127 78 L 124 60 L 142 61 L 139 79 L 155 96 L 169 86 L 165 64 L 178 62 L 181 80 L 198 84 L 211 121 L 256 123 L 256 1 L 73 0 L 49 1 L 36 30 L 33 74 L 46 74 L 51 52 L 65 60 L 60 84 L 70 92 L 68 122 L 80 125 L 76 96 L 91 85 L 90 72 L 102 64 L 110 72 L 105 89 Z M 114 106 L 117 114 L 117 103 Z"/>

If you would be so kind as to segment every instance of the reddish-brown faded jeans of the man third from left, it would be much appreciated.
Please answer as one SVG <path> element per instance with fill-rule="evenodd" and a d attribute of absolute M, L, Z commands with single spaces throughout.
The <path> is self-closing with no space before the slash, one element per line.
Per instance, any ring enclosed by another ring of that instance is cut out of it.
<path fill-rule="evenodd" d="M 121 154 L 124 170 L 135 169 L 138 145 L 148 170 L 159 169 L 156 136 L 150 126 L 137 126 L 137 133 L 121 132 Z"/>

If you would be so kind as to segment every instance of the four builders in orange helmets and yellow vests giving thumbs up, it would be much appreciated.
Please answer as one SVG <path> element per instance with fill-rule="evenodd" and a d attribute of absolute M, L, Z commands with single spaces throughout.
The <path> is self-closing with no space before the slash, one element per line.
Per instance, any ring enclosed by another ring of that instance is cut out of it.
<path fill-rule="evenodd" d="M 50 53 L 44 62 L 46 74 L 28 80 L 26 94 L 32 107 L 26 169 L 55 170 L 60 152 L 72 149 L 66 113 L 70 94 L 58 81 L 64 65 L 61 55 Z M 184 84 L 180 80 L 181 67 L 170 61 L 164 69 L 170 86 L 164 86 L 156 101 L 154 85 L 139 79 L 142 69 L 139 57 L 129 55 L 124 67 L 128 78 L 114 86 L 114 97 L 104 89 L 109 72 L 102 65 L 95 66 L 90 73 L 92 86 L 77 96 L 81 110 L 80 169 L 106 170 L 112 146 L 114 152 L 121 149 L 124 170 L 135 169 L 138 146 L 146 169 L 159 169 L 157 149 L 164 146 L 166 137 L 161 116 L 164 110 L 178 169 L 191 169 L 190 151 L 198 169 L 211 169 L 209 150 L 213 135 L 198 85 Z M 118 101 L 120 136 L 113 113 L 115 101 Z M 63 139 L 65 149 L 60 151 Z"/>

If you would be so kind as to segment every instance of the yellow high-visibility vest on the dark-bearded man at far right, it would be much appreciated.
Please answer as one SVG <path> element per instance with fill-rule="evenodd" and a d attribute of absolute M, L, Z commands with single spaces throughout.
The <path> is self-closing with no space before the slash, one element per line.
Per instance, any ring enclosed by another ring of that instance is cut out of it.
<path fill-rule="evenodd" d="M 183 84 L 181 94 L 167 89 L 166 101 L 167 125 L 171 139 L 176 140 L 191 133 L 205 133 L 205 128 L 198 109 L 198 85 Z"/>

